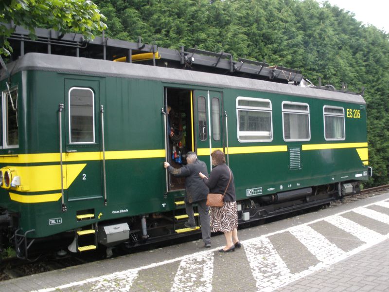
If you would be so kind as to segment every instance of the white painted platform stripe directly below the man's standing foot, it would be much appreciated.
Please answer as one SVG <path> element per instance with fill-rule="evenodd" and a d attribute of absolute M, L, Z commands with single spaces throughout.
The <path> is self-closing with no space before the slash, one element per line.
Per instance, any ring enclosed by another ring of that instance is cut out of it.
<path fill-rule="evenodd" d="M 171 292 L 212 291 L 213 252 L 181 260 Z"/>

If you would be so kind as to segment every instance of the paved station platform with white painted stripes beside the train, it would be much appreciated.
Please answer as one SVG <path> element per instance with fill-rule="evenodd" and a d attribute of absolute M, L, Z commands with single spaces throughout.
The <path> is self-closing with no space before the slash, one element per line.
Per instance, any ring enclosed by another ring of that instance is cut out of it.
<path fill-rule="evenodd" d="M 389 193 L 238 230 L 0 282 L 8 292 L 389 291 Z"/>

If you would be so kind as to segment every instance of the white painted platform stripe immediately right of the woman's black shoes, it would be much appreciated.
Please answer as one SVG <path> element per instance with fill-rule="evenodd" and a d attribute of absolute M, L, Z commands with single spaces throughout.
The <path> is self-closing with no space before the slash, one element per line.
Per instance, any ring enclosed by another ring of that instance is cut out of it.
<path fill-rule="evenodd" d="M 284 281 L 292 276 L 269 238 L 258 237 L 249 242 L 247 240 L 244 249 L 252 275 L 260 291 L 272 291 L 282 286 Z"/>

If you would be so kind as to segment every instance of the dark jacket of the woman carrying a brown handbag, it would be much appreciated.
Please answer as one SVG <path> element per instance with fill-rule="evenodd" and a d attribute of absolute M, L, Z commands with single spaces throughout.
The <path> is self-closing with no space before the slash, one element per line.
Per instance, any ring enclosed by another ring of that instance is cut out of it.
<path fill-rule="evenodd" d="M 203 182 L 210 188 L 210 193 L 214 194 L 224 194 L 226 187 L 230 180 L 230 170 L 227 164 L 223 163 L 217 166 L 214 166 L 211 171 L 211 176 L 209 179 L 204 178 Z M 235 186 L 234 186 L 234 175 L 231 171 L 231 182 L 226 191 L 223 201 L 233 202 L 236 201 L 235 196 Z"/>

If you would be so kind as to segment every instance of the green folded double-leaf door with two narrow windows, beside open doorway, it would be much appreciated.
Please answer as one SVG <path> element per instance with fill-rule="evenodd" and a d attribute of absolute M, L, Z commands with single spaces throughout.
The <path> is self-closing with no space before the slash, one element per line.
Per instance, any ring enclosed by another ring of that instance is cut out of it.
<path fill-rule="evenodd" d="M 197 156 L 211 171 L 211 152 L 223 151 L 222 95 L 219 91 L 195 90 L 195 141 Z"/>

